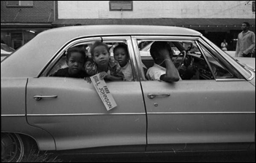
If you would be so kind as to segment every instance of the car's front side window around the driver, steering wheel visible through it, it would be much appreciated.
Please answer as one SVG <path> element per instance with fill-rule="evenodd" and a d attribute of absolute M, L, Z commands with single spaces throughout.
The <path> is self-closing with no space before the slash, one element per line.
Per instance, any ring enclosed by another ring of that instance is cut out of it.
<path fill-rule="evenodd" d="M 151 44 L 154 41 L 157 40 L 138 40 L 140 58 L 147 69 L 154 65 L 154 60 L 150 54 Z M 165 41 L 170 44 L 173 52 L 172 60 L 182 80 L 229 79 L 234 77 L 223 66 L 224 64 L 212 55 L 213 52 L 202 44 L 197 44 L 197 41 Z M 184 55 L 184 52 L 186 52 L 186 55 Z M 146 75 L 145 70 L 144 73 Z"/>

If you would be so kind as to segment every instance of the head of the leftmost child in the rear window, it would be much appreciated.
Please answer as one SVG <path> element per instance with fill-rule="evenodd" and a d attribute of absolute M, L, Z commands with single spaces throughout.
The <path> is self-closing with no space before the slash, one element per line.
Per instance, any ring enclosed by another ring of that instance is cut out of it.
<path fill-rule="evenodd" d="M 72 52 L 67 65 L 69 66 L 69 74 L 75 75 L 83 70 L 83 55 L 80 52 Z"/>

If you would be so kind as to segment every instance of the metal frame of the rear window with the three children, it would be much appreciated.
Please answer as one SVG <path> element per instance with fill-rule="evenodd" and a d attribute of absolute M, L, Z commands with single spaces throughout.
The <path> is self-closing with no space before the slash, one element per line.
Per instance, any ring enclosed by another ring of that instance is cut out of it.
<path fill-rule="evenodd" d="M 103 41 L 103 42 L 121 42 L 121 41 L 126 41 L 127 42 L 127 47 L 128 47 L 128 52 L 129 52 L 129 60 L 132 66 L 132 73 L 134 76 L 134 81 L 139 81 L 139 75 L 138 75 L 138 68 L 136 67 L 136 59 L 135 59 L 135 54 L 132 46 L 132 41 L 130 36 L 93 36 L 93 37 L 82 37 L 82 38 L 76 38 L 68 41 L 66 44 L 64 44 L 58 52 L 56 52 L 55 55 L 49 60 L 48 64 L 46 65 L 45 68 L 43 68 L 42 72 L 39 73 L 41 75 L 39 76 L 49 76 L 51 70 L 53 67 L 56 65 L 56 63 L 59 62 L 61 57 L 63 57 L 64 53 L 69 49 L 70 47 L 75 47 L 80 44 L 86 44 L 86 43 L 94 43 L 95 41 Z"/>

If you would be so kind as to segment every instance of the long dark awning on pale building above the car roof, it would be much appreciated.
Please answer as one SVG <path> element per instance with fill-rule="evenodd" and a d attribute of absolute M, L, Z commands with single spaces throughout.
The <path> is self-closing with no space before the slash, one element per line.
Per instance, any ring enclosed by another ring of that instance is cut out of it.
<path fill-rule="evenodd" d="M 255 19 L 233 18 L 144 18 L 144 19 L 59 19 L 56 26 L 69 25 L 169 25 L 189 28 L 223 27 L 241 29 L 243 22 L 249 22 L 255 28 Z"/>

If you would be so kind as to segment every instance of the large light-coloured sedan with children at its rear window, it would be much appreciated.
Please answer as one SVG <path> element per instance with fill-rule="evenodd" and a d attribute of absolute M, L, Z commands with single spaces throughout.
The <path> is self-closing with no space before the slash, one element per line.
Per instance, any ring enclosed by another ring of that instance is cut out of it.
<path fill-rule="evenodd" d="M 116 101 L 107 111 L 94 85 L 50 76 L 70 47 L 127 44 L 134 81 L 106 81 Z M 141 41 L 167 41 L 182 80 L 149 81 L 151 56 Z M 195 46 L 191 50 L 188 44 Z M 186 46 L 185 46 L 186 45 Z M 244 58 L 255 65 L 255 58 Z M 255 68 L 188 28 L 79 25 L 39 33 L 1 62 L 1 161 L 39 151 L 189 153 L 255 151 Z"/>

